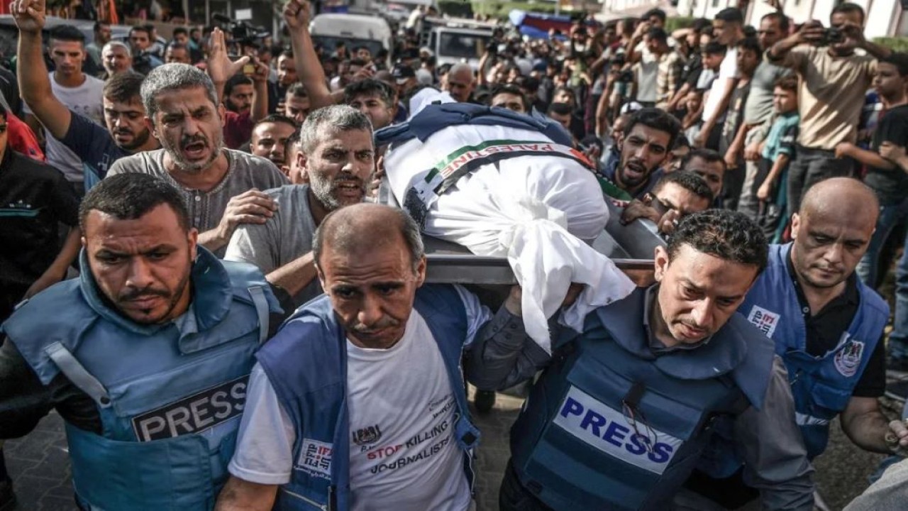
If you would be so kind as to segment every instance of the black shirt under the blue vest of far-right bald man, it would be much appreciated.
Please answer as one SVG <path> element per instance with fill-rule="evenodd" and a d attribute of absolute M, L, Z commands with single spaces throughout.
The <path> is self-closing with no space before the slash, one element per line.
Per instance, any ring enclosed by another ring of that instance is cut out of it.
<path fill-rule="evenodd" d="M 824 356 L 830 350 L 838 346 L 842 339 L 842 334 L 851 326 L 854 315 L 857 314 L 857 307 L 861 303 L 860 292 L 857 289 L 857 276 L 853 273 L 845 281 L 845 289 L 842 295 L 836 296 L 833 301 L 826 304 L 823 309 L 811 316 L 810 305 L 804 296 L 804 291 L 795 276 L 795 266 L 792 265 L 791 252 L 786 255 L 785 261 L 788 264 L 788 273 L 792 276 L 792 283 L 795 285 L 797 299 L 804 315 L 804 326 L 807 330 L 806 349 L 807 353 L 813 356 Z M 864 367 L 864 373 L 857 385 L 854 386 L 852 396 L 856 397 L 879 397 L 883 396 L 886 390 L 886 358 L 885 343 L 883 342 L 882 333 L 867 366 Z"/>

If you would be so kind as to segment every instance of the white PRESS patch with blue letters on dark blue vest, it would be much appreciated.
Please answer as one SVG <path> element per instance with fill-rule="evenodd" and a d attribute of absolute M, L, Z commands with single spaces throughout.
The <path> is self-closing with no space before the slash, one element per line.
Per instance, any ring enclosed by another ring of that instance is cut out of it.
<path fill-rule="evenodd" d="M 620 412 L 571 386 L 553 422 L 608 456 L 656 474 L 665 472 L 684 442 L 639 422 L 637 433 L 628 421 Z"/>

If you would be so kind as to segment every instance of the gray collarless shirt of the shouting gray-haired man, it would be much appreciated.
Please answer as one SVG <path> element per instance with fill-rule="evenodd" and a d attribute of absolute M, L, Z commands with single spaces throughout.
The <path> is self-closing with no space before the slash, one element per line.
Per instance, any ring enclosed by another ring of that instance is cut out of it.
<path fill-rule="evenodd" d="M 192 190 L 177 183 L 164 168 L 164 149 L 120 158 L 111 165 L 107 175 L 142 173 L 163 178 L 183 192 L 189 209 L 189 222 L 203 233 L 221 223 L 227 203 L 232 197 L 252 188 L 267 190 L 287 184 L 287 178 L 271 161 L 232 149 L 224 149 L 224 152 L 229 164 L 227 174 L 221 183 L 207 192 Z M 223 252 L 222 248 L 214 254 L 222 257 Z"/>

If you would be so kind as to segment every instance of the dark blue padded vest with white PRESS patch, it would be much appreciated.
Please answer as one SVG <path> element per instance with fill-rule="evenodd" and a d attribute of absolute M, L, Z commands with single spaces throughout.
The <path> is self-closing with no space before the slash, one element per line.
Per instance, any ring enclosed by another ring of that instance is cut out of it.
<path fill-rule="evenodd" d="M 716 417 L 763 405 L 773 347 L 743 317 L 704 346 L 654 356 L 645 300 L 638 289 L 587 316 L 511 429 L 518 478 L 547 506 L 670 506 Z"/>

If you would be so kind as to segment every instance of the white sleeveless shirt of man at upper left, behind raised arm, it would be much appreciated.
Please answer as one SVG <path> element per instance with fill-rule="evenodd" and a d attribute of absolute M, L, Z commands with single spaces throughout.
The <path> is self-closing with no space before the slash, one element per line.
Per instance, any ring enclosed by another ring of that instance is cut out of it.
<path fill-rule="evenodd" d="M 85 81 L 77 87 L 64 87 L 57 84 L 54 80 L 54 73 L 50 73 L 50 80 L 51 90 L 61 103 L 76 114 L 84 115 L 95 123 L 104 125 L 104 82 L 102 80 L 85 75 Z M 32 113 L 28 105 L 24 105 L 23 111 L 25 114 Z M 75 155 L 69 147 L 47 133 L 47 130 L 44 130 L 44 138 L 47 140 L 44 150 L 47 163 L 62 172 L 67 181 L 82 183 L 84 181 L 82 159 Z"/>

